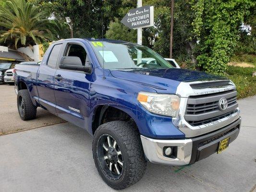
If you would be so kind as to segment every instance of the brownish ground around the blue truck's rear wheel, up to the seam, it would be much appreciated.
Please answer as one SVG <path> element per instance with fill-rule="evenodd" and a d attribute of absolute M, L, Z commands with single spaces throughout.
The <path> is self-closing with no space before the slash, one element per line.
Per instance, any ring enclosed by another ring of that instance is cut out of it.
<path fill-rule="evenodd" d="M 35 120 L 21 120 L 13 85 L 0 84 L 0 93 L 0 135 L 65 122 L 42 108 L 37 108 Z"/>

